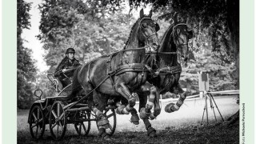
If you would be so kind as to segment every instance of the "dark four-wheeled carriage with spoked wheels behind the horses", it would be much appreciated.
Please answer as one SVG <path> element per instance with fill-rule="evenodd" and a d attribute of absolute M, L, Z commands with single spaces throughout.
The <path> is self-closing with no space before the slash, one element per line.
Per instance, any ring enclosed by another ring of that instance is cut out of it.
<path fill-rule="evenodd" d="M 49 124 L 50 134 L 55 140 L 64 137 L 67 125 L 74 125 L 79 136 L 89 134 L 91 122 L 97 123 L 97 117 L 94 112 L 90 111 L 88 105 L 84 102 L 78 102 L 82 97 L 77 96 L 75 102 L 66 101 L 67 94 L 71 92 L 71 84 L 60 89 L 60 83 L 54 74 L 47 74 L 54 89 L 58 93 L 57 96 L 42 98 L 42 90 L 35 90 L 34 95 L 39 98 L 30 107 L 28 123 L 30 124 L 30 134 L 32 138 L 42 138 L 46 125 Z M 108 103 L 103 114 L 110 121 L 109 129 L 106 132 L 110 135 L 114 134 L 116 128 L 116 106 Z M 97 125 L 98 126 L 98 125 Z"/>

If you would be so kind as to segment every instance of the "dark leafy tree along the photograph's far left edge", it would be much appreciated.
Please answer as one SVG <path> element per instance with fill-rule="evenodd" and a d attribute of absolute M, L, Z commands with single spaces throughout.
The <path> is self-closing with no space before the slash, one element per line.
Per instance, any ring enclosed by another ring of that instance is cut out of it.
<path fill-rule="evenodd" d="M 17 3 L 17 104 L 19 109 L 29 108 L 34 102 L 33 87 L 36 68 L 31 58 L 31 50 L 23 46 L 22 29 L 30 27 L 30 3 Z"/>

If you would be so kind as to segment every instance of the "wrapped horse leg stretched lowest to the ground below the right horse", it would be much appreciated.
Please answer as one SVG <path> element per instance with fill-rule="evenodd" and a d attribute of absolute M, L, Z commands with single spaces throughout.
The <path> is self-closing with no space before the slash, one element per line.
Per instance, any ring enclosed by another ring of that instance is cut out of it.
<path fill-rule="evenodd" d="M 140 118 L 142 119 L 142 121 L 144 122 L 145 126 L 146 126 L 146 131 L 147 131 L 147 135 L 150 137 L 154 137 L 156 134 L 156 130 L 154 130 L 154 128 L 151 126 L 150 121 L 149 121 L 149 116 L 150 113 L 146 113 L 146 101 L 147 101 L 147 94 L 146 93 L 142 93 L 142 94 L 138 94 L 138 98 L 139 98 L 139 111 L 140 111 Z M 142 116 L 143 115 L 143 116 Z"/>

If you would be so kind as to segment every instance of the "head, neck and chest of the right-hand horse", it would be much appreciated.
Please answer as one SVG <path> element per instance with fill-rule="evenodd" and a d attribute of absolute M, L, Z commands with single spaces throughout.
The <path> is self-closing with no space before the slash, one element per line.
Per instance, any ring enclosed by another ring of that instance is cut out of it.
<path fill-rule="evenodd" d="M 150 54 L 150 58 L 147 59 L 148 65 L 158 75 L 149 82 L 158 86 L 161 94 L 166 91 L 177 94 L 177 90 L 174 89 L 178 86 L 182 72 L 178 58 L 183 58 L 184 61 L 188 58 L 188 41 L 192 36 L 193 33 L 188 29 L 186 21 L 178 18 L 178 14 L 174 14 L 174 22 L 166 30 L 158 52 Z"/>

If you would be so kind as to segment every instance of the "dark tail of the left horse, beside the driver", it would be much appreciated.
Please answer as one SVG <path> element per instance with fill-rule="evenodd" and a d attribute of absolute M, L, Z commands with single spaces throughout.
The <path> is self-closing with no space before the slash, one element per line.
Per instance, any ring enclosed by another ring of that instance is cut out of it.
<path fill-rule="evenodd" d="M 71 93 L 67 95 L 67 100 L 70 100 L 76 96 L 79 90 L 82 89 L 81 84 L 78 82 L 78 73 L 81 70 L 82 66 L 79 66 L 78 69 L 74 71 L 73 78 L 72 78 L 72 88 Z"/>

